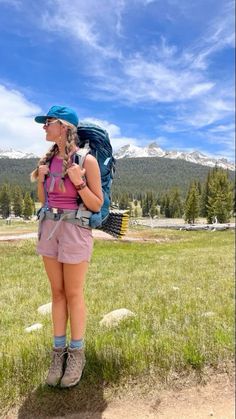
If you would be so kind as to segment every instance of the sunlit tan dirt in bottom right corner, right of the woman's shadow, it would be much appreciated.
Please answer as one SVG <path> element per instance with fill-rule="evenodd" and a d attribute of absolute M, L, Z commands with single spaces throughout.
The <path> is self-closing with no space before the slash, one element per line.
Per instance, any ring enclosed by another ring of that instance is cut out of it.
<path fill-rule="evenodd" d="M 234 387 L 227 380 L 217 378 L 204 387 L 166 391 L 144 400 L 120 400 L 108 405 L 101 418 L 234 419 Z"/>

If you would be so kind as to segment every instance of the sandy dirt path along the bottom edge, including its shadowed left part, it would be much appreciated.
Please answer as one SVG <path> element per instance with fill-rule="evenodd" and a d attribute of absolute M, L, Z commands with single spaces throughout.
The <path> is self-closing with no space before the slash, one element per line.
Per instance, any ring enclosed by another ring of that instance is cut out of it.
<path fill-rule="evenodd" d="M 20 409 L 9 412 L 4 418 L 23 418 Z M 227 374 L 220 374 L 212 376 L 205 385 L 181 390 L 153 388 L 149 394 L 142 395 L 140 389 L 137 392 L 133 389 L 127 394 L 123 391 L 112 400 L 104 395 L 101 405 L 90 406 L 88 410 L 81 406 L 73 414 L 62 415 L 60 412 L 59 415 L 35 416 L 32 411 L 24 411 L 24 419 L 233 419 L 234 412 L 234 380 Z"/>

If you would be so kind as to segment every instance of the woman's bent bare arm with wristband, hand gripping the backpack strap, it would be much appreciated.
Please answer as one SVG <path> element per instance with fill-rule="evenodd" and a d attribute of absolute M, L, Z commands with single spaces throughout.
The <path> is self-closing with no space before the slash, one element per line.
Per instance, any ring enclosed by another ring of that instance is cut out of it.
<path fill-rule="evenodd" d="M 93 212 L 98 212 L 103 204 L 101 174 L 97 160 L 88 154 L 84 161 L 83 170 L 79 165 L 73 164 L 68 169 L 71 182 L 76 186 L 81 184 L 82 176 L 86 175 L 86 187 L 78 190 L 84 205 Z"/>

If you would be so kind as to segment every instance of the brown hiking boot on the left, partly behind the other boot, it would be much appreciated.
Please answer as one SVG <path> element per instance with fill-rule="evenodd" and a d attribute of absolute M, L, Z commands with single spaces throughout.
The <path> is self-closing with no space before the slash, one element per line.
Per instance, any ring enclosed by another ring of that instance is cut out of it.
<path fill-rule="evenodd" d="M 46 378 L 46 383 L 49 386 L 55 387 L 64 373 L 65 359 L 66 359 L 66 348 L 53 348 L 52 360 Z"/>

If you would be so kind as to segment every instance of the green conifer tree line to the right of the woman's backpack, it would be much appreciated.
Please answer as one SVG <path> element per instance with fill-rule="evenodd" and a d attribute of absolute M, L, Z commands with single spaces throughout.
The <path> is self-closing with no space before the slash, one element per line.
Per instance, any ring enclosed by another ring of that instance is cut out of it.
<path fill-rule="evenodd" d="M 192 181 L 184 198 L 180 189 L 173 187 L 164 194 L 155 194 L 153 191 L 144 194 L 115 194 L 113 201 L 118 208 L 128 209 L 134 217 L 183 217 L 188 223 L 194 223 L 198 217 L 205 217 L 208 223 L 226 223 L 235 212 L 234 197 L 233 183 L 228 172 L 215 167 L 209 170 L 205 183 Z"/>

